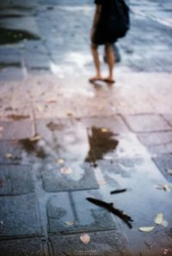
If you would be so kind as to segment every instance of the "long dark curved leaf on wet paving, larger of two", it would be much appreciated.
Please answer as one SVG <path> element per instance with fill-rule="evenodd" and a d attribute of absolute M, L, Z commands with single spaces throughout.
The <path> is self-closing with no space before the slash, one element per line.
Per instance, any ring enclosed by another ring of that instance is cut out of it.
<path fill-rule="evenodd" d="M 106 208 L 110 213 L 120 217 L 120 219 L 124 221 L 129 228 L 132 228 L 132 218 L 118 208 L 114 208 L 114 204 L 112 202 L 107 203 L 91 197 L 87 197 L 86 199 L 99 207 Z"/>

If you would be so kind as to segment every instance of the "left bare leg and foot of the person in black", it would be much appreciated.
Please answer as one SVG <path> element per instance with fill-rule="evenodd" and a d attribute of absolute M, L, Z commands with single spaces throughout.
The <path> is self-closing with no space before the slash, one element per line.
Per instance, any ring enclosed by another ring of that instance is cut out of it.
<path fill-rule="evenodd" d="M 99 60 L 99 54 L 98 54 L 98 46 L 95 45 L 95 44 L 92 44 L 91 45 L 91 53 L 93 55 L 93 61 L 95 63 L 95 71 L 96 71 L 96 74 L 94 77 L 92 77 L 90 80 L 101 80 L 101 63 L 100 63 L 100 60 Z"/>

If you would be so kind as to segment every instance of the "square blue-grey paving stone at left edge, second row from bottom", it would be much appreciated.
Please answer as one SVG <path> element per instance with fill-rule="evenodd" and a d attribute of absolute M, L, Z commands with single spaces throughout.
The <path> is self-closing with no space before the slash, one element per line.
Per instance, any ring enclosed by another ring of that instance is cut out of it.
<path fill-rule="evenodd" d="M 38 204 L 34 194 L 0 197 L 0 237 L 40 235 Z"/>

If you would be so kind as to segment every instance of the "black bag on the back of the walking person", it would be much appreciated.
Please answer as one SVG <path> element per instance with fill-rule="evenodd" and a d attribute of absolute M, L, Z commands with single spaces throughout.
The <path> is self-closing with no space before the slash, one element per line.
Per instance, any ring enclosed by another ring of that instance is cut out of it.
<path fill-rule="evenodd" d="M 129 7 L 124 0 L 111 0 L 111 12 L 107 21 L 108 33 L 114 38 L 126 35 L 130 28 Z"/>

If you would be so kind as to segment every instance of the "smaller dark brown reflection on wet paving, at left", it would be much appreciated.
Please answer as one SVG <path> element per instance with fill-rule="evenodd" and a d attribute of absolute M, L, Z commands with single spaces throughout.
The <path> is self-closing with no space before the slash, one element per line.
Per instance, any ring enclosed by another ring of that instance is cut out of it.
<path fill-rule="evenodd" d="M 31 141 L 28 139 L 22 139 L 20 140 L 20 144 L 22 144 L 22 148 L 28 153 L 28 154 L 34 154 L 36 157 L 39 157 L 41 159 L 46 158 L 46 152 L 43 150 L 42 147 L 39 147 L 38 141 Z"/>

